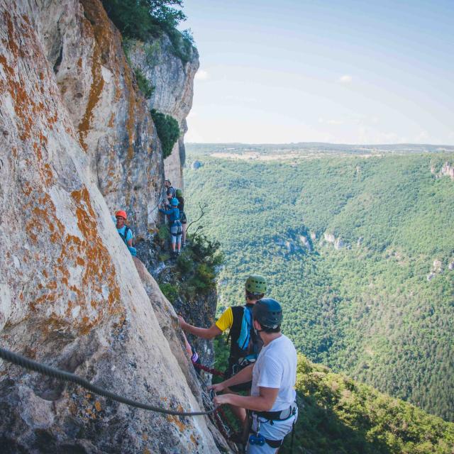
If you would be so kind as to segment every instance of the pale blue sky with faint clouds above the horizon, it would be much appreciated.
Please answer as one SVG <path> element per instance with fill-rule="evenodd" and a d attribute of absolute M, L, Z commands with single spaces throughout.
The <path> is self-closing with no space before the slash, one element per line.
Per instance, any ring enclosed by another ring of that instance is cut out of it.
<path fill-rule="evenodd" d="M 184 0 L 186 142 L 454 144 L 454 0 Z"/>

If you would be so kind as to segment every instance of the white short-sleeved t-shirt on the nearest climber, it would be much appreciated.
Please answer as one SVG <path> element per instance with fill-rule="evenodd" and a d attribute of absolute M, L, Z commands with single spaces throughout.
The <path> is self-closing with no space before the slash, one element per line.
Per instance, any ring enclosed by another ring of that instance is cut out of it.
<path fill-rule="evenodd" d="M 280 336 L 262 348 L 253 368 L 251 396 L 259 396 L 259 387 L 279 388 L 270 411 L 287 409 L 295 400 L 297 350 L 287 336 Z"/>

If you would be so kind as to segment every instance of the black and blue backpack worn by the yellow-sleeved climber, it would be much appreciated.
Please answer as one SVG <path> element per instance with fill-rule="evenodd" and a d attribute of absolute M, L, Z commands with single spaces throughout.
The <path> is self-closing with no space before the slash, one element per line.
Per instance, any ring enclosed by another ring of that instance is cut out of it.
<path fill-rule="evenodd" d="M 262 340 L 253 328 L 252 304 L 233 306 L 233 323 L 228 334 L 230 338 L 229 369 L 232 375 L 257 360 L 262 349 Z"/>

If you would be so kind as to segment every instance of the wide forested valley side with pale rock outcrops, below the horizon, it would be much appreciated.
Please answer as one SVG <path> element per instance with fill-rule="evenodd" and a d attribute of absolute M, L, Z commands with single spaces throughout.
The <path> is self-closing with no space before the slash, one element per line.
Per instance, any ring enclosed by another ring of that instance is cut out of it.
<path fill-rule="evenodd" d="M 226 254 L 220 311 L 260 272 L 301 353 L 453 420 L 452 153 L 188 161 L 189 221 L 206 203 Z"/>

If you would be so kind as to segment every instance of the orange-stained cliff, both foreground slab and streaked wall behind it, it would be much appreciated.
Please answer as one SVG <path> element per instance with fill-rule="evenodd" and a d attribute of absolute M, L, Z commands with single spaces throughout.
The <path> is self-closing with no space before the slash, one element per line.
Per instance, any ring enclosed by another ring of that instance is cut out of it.
<path fill-rule="evenodd" d="M 162 182 L 118 33 L 98 0 L 0 0 L 0 42 L 1 345 L 199 410 L 175 312 L 111 221 L 126 206 L 145 232 Z M 9 452 L 216 453 L 212 432 L 0 363 Z"/>

